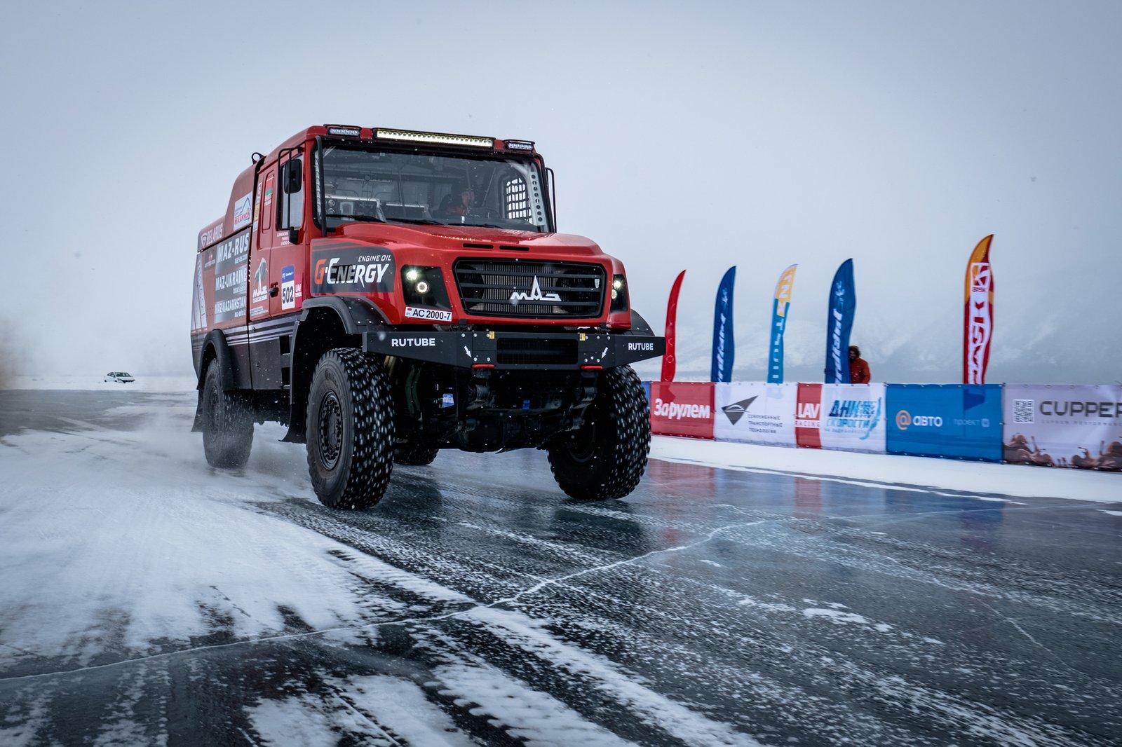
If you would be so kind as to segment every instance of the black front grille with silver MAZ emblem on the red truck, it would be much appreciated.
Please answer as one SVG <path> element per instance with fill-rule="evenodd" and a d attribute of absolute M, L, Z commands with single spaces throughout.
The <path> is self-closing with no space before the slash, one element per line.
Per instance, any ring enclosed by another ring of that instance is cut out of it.
<path fill-rule="evenodd" d="M 458 259 L 452 269 L 468 314 L 589 319 L 604 305 L 599 265 Z"/>

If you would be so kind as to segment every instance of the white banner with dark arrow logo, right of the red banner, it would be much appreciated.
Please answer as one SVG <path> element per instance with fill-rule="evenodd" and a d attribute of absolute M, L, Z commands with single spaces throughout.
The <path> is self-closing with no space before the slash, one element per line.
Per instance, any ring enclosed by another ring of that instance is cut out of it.
<path fill-rule="evenodd" d="M 772 446 L 794 446 L 795 384 L 715 384 L 712 435 Z"/>

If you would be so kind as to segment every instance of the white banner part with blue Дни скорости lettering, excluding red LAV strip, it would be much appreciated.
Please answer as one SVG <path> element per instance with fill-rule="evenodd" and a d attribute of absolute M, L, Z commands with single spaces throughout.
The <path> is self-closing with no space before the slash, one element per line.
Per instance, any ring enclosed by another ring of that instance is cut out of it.
<path fill-rule="evenodd" d="M 883 454 L 884 385 L 824 384 L 818 428 L 822 449 Z"/>

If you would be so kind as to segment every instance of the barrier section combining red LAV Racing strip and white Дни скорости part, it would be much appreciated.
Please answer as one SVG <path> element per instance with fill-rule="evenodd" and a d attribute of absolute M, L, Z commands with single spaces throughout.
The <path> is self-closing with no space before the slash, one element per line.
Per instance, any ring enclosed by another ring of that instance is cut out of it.
<path fill-rule="evenodd" d="M 798 446 L 884 453 L 883 384 L 800 384 L 795 407 Z"/>

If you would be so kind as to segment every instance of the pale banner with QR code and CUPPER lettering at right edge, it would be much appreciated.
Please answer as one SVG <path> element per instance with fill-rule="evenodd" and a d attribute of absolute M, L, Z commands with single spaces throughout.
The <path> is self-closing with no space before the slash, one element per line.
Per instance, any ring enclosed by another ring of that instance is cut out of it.
<path fill-rule="evenodd" d="M 1006 384 L 1006 462 L 1122 471 L 1122 387 Z"/>

